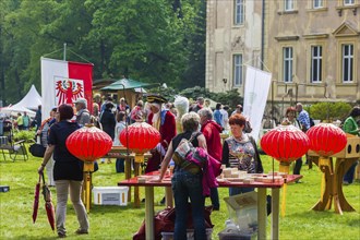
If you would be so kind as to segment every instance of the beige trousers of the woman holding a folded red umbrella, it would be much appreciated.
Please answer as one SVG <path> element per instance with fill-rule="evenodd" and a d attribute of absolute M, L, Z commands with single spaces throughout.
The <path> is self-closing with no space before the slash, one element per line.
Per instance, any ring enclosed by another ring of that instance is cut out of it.
<path fill-rule="evenodd" d="M 77 216 L 80 229 L 88 231 L 88 218 L 85 206 L 81 200 L 81 190 L 83 182 L 72 180 L 57 180 L 55 181 L 55 183 L 57 188 L 56 224 L 58 232 L 67 233 L 65 218 L 69 192 L 70 200 L 72 202 L 72 205 L 74 206 Z"/>

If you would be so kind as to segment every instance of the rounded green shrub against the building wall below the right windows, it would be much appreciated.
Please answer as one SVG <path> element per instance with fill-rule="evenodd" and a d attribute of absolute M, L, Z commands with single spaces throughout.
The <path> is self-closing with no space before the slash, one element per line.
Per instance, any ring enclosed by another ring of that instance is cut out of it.
<path fill-rule="evenodd" d="M 313 119 L 343 121 L 348 117 L 351 108 L 351 105 L 347 103 L 317 103 L 305 109 Z"/>

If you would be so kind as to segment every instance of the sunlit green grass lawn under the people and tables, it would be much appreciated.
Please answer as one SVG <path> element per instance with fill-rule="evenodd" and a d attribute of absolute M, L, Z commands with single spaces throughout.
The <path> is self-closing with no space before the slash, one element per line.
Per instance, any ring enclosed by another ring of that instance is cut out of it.
<path fill-rule="evenodd" d="M 0 239 L 55 239 L 46 217 L 44 200 L 40 196 L 40 206 L 36 224 L 32 221 L 34 188 L 38 179 L 37 168 L 40 158 L 31 157 L 27 161 L 12 163 L 2 159 L 0 155 L 0 185 L 10 185 L 10 192 L 0 193 Z M 272 159 L 262 156 L 265 171 L 271 170 Z M 278 164 L 275 163 L 276 168 Z M 277 170 L 277 169 L 275 169 Z M 311 207 L 320 197 L 321 175 L 316 166 L 309 170 L 302 167 L 302 183 L 289 184 L 287 190 L 286 216 L 280 217 L 280 239 L 360 239 L 360 184 L 353 183 L 344 187 L 345 196 L 357 212 L 338 215 L 334 209 L 314 212 Z M 99 171 L 94 175 L 96 187 L 117 185 L 124 179 L 123 173 L 116 173 L 115 159 L 112 164 L 99 165 Z M 55 196 L 55 189 L 52 188 Z M 220 197 L 228 196 L 227 189 L 219 189 Z M 159 202 L 164 190 L 155 189 L 155 201 Z M 144 190 L 141 188 L 141 197 Z M 56 204 L 56 200 L 53 200 Z M 209 205 L 209 199 L 206 200 Z M 221 200 L 219 212 L 212 214 L 213 239 L 224 229 L 227 219 L 227 208 Z M 156 211 L 164 206 L 156 204 Z M 75 236 L 77 229 L 76 216 L 69 202 L 67 229 L 69 239 L 131 239 L 144 219 L 144 204 L 133 208 L 129 203 L 125 207 L 94 205 L 89 213 L 91 233 Z M 269 217 L 267 236 L 269 236 Z"/>

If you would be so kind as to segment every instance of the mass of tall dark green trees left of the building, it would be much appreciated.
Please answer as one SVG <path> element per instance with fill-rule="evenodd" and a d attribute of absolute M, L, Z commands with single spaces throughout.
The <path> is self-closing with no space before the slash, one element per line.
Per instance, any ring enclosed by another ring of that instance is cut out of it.
<path fill-rule="evenodd" d="M 94 63 L 94 79 L 128 76 L 172 87 L 203 86 L 203 0 L 0 1 L 1 98 L 35 84 L 40 57 Z M 74 53 L 75 52 L 75 53 Z"/>

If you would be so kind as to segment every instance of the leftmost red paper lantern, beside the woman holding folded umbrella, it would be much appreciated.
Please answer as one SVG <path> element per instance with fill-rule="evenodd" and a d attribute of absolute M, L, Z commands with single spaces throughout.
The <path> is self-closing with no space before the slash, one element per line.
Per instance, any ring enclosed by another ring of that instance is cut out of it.
<path fill-rule="evenodd" d="M 111 137 L 95 127 L 79 129 L 67 139 L 69 152 L 83 161 L 95 161 L 106 155 L 111 146 Z"/>

